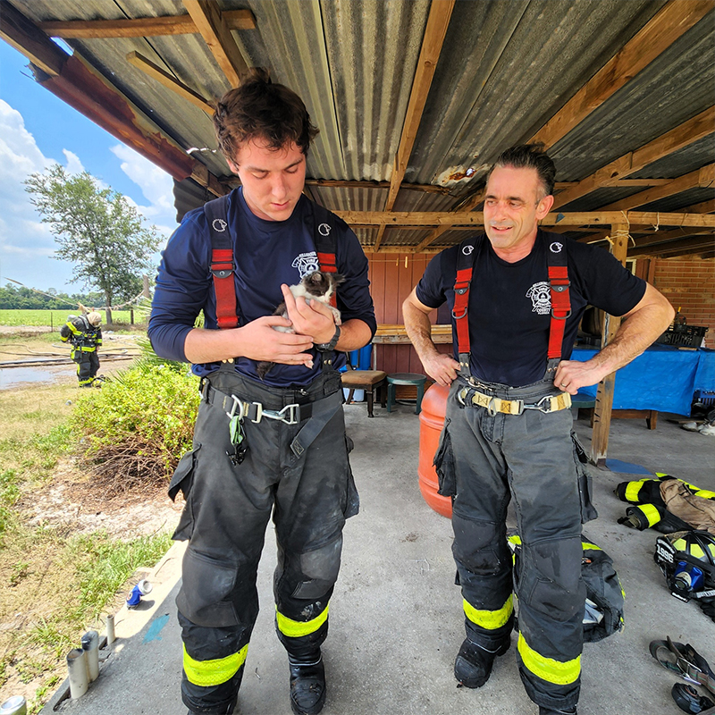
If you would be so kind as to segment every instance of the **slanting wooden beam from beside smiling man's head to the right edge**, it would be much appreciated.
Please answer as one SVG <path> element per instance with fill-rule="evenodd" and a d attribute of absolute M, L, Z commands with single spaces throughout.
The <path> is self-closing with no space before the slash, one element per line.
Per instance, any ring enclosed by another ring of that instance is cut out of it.
<path fill-rule="evenodd" d="M 662 134 L 657 139 L 645 144 L 635 151 L 606 164 L 597 172 L 579 181 L 576 186 L 561 191 L 554 200 L 554 208 L 564 206 L 576 198 L 591 193 L 594 189 L 604 186 L 614 186 L 628 174 L 640 171 L 654 161 L 668 156 L 678 149 L 688 147 L 698 139 L 707 137 L 715 131 L 715 106 L 708 107 L 704 112 L 697 114 L 679 127 Z"/>

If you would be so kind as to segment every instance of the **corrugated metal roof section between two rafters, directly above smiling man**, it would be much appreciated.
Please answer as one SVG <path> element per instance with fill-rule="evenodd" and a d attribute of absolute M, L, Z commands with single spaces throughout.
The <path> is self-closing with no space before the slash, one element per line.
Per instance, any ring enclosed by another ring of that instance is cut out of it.
<path fill-rule="evenodd" d="M 455 5 L 406 181 L 442 184 L 528 139 L 658 12 L 649 0 Z"/>

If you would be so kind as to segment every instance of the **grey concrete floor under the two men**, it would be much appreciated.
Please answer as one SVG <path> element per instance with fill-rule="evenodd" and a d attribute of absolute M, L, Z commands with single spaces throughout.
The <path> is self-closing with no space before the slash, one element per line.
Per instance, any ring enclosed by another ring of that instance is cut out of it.
<path fill-rule="evenodd" d="M 324 646 L 328 677 L 325 715 L 523 715 L 537 708 L 517 674 L 515 648 L 495 663 L 483 688 L 457 687 L 452 675 L 464 637 L 461 597 L 454 584 L 450 521 L 430 509 L 417 488 L 419 419 L 414 406 L 391 414 L 346 406 L 351 455 L 362 506 L 345 529 L 343 565 L 331 602 Z M 715 490 L 715 438 L 689 433 L 660 415 L 614 420 L 609 457 L 653 472 L 668 472 Z M 586 450 L 588 422 L 576 422 Z M 715 666 L 715 627 L 694 603 L 669 595 L 652 553 L 656 534 L 619 526 L 625 504 L 613 494 L 621 481 L 641 478 L 593 469 L 600 517 L 585 526 L 589 540 L 615 561 L 627 593 L 626 629 L 600 644 L 586 644 L 581 715 L 677 715 L 670 688 L 677 677 L 648 652 L 669 635 L 691 643 Z M 271 575 L 275 564 L 269 527 L 258 573 L 261 612 L 241 687 L 241 715 L 290 715 L 288 667 L 273 633 Z M 184 715 L 179 682 L 181 641 L 173 599 L 181 576 L 181 544 L 157 566 L 155 590 L 144 610 L 116 615 L 118 640 L 103 650 L 100 677 L 77 701 L 61 687 L 42 711 L 77 715 Z M 516 635 L 512 636 L 516 644 Z"/>

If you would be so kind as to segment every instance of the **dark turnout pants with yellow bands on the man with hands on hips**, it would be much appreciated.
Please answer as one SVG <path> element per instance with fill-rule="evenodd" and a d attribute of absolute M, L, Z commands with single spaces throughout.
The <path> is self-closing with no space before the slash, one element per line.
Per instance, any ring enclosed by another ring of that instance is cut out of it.
<path fill-rule="evenodd" d="M 496 650 L 518 609 L 517 660 L 526 693 L 559 709 L 578 701 L 585 586 L 581 580 L 580 482 L 568 409 L 490 415 L 464 407 L 450 390 L 435 466 L 441 493 L 453 497 L 454 558 L 467 637 Z M 490 385 L 502 399 L 535 403 L 554 394 L 551 380 L 526 388 Z M 506 517 L 513 501 L 522 542 L 512 577 Z"/>

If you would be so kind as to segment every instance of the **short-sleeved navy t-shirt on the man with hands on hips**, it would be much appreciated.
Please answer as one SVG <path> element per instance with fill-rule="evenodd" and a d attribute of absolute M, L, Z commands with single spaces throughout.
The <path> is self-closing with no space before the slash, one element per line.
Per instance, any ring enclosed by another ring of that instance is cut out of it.
<path fill-rule="evenodd" d="M 475 263 L 467 319 L 470 369 L 477 379 L 522 387 L 543 378 L 549 349 L 551 294 L 547 247 L 558 241 L 568 257 L 571 315 L 567 318 L 561 357 L 568 360 L 578 324 L 589 305 L 610 315 L 624 315 L 643 298 L 645 282 L 626 270 L 603 248 L 538 232 L 531 253 L 516 263 L 498 257 L 486 235 L 475 240 Z M 427 265 L 416 297 L 427 307 L 445 301 L 454 307 L 459 246 L 446 248 Z M 454 333 L 454 319 L 452 318 Z M 454 357 L 457 359 L 455 338 Z"/>

